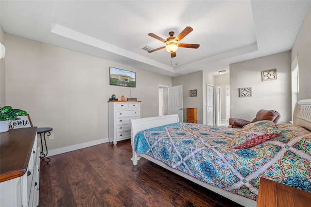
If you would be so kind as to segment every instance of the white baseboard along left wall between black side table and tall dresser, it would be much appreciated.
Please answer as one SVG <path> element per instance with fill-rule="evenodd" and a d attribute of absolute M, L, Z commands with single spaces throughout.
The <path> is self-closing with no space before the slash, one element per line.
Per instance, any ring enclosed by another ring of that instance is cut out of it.
<path fill-rule="evenodd" d="M 48 151 L 49 154 L 47 155 L 47 157 L 53 156 L 53 155 L 59 155 L 62 153 L 67 153 L 67 152 L 74 151 L 74 150 L 79 150 L 82 148 L 86 148 L 86 147 L 90 147 L 90 146 L 94 146 L 94 145 L 98 145 L 98 144 L 103 144 L 103 143 L 106 143 L 108 141 L 109 141 L 108 138 L 103 138 L 103 139 L 88 141 L 88 142 L 84 142 L 84 143 L 80 143 L 80 144 L 74 144 L 74 145 L 70 145 L 67 147 L 61 147 L 61 148 L 49 150 Z M 46 152 L 44 152 L 44 151 L 43 151 L 43 153 L 46 154 Z"/>

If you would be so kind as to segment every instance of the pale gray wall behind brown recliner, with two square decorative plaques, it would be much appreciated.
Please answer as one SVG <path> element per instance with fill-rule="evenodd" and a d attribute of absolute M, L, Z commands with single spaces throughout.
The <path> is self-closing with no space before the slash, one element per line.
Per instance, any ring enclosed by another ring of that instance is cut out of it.
<path fill-rule="evenodd" d="M 261 71 L 269 69 L 277 79 L 261 81 Z M 252 97 L 239 97 L 243 87 L 252 87 Z M 292 120 L 290 51 L 230 64 L 230 117 L 252 121 L 260 109 L 278 111 L 278 123 Z"/>

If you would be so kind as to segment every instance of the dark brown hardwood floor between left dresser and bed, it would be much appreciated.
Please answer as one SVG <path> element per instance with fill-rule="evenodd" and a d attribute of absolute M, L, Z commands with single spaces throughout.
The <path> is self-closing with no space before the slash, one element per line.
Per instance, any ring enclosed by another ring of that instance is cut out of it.
<path fill-rule="evenodd" d="M 51 156 L 40 164 L 39 207 L 241 207 L 144 158 L 130 140 Z"/>

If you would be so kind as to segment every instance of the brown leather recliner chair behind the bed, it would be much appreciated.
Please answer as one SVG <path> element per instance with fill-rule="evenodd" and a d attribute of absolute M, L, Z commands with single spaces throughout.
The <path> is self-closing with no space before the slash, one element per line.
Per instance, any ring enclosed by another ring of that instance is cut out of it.
<path fill-rule="evenodd" d="M 247 121 L 243 119 L 237 119 L 237 118 L 229 118 L 229 126 L 232 128 L 242 128 L 243 126 L 249 124 L 249 123 L 254 123 L 256 121 L 262 121 L 262 120 L 268 120 L 268 121 L 273 121 L 277 123 L 277 121 L 281 118 L 281 115 L 274 110 L 265 110 L 261 109 L 257 112 L 256 118 L 253 121 Z"/>

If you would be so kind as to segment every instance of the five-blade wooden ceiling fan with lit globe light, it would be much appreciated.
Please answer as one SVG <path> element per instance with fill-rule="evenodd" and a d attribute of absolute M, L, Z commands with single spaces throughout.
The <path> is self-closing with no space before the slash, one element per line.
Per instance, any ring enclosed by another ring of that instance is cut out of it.
<path fill-rule="evenodd" d="M 169 32 L 169 37 L 167 39 L 163 39 L 162 37 L 159 37 L 158 35 L 155 35 L 153 33 L 149 33 L 148 35 L 151 37 L 154 37 L 157 40 L 160 40 L 161 42 L 164 42 L 166 46 L 156 48 L 154 50 L 148 51 L 148 52 L 155 52 L 158 50 L 161 50 L 163 48 L 166 48 L 168 52 L 171 52 L 171 57 L 176 57 L 176 50 L 178 48 L 199 48 L 200 45 L 198 44 L 187 44 L 187 43 L 178 43 L 182 38 L 184 38 L 186 35 L 188 35 L 190 32 L 192 32 L 191 27 L 186 27 L 179 35 L 174 37 L 174 32 Z"/>

